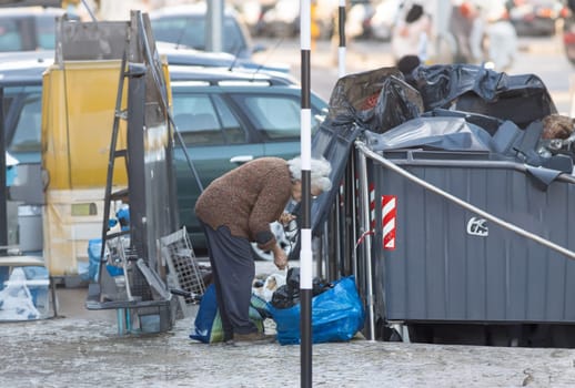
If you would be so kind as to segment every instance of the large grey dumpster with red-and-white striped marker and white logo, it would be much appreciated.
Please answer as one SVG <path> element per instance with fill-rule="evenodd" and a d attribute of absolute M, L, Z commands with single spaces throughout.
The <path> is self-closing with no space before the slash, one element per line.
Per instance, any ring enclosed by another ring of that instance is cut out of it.
<path fill-rule="evenodd" d="M 545 188 L 523 164 L 487 153 L 412 150 L 386 157 L 508 223 L 575 248 L 572 175 Z M 371 175 L 376 198 L 395 198 L 394 248 L 383 246 L 381 223 L 373 244 L 377 308 L 387 320 L 575 321 L 574 261 L 373 161 Z"/>

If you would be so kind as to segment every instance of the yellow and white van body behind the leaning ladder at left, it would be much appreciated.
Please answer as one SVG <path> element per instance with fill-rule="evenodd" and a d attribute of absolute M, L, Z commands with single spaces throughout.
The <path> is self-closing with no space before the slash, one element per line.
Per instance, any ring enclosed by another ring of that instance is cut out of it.
<path fill-rule="evenodd" d="M 88 265 L 88 242 L 102 233 L 121 60 L 54 63 L 42 80 L 43 255 L 52 276 Z M 123 99 L 125 100 L 125 99 Z M 125 149 L 121 122 L 119 149 Z M 127 186 L 114 164 L 114 185 Z"/>

